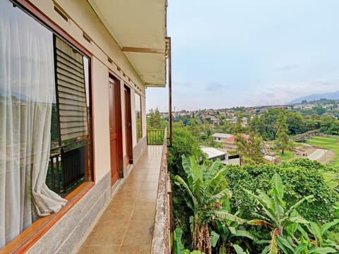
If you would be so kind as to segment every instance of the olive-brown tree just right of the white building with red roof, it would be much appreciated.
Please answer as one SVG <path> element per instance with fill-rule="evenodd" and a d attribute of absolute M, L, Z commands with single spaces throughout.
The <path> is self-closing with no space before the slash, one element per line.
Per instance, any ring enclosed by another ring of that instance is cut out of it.
<path fill-rule="evenodd" d="M 256 137 L 254 133 L 249 134 L 249 138 L 243 135 L 236 135 L 235 143 L 239 152 L 242 164 L 260 164 L 263 163 L 263 153 L 261 152 L 261 138 Z"/>

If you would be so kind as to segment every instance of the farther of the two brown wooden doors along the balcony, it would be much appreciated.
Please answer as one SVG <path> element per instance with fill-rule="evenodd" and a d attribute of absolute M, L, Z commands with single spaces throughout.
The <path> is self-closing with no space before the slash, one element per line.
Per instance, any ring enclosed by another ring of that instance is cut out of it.
<path fill-rule="evenodd" d="M 126 136 L 126 164 L 133 163 L 132 120 L 131 120 L 131 90 L 124 86 L 125 98 L 125 136 Z"/>

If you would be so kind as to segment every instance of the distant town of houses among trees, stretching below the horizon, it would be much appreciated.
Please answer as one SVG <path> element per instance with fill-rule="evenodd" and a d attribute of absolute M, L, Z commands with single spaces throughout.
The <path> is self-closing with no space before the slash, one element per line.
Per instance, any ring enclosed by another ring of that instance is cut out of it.
<path fill-rule="evenodd" d="M 335 158 L 333 150 L 305 143 L 314 135 L 338 137 L 338 105 L 339 99 L 310 102 L 304 99 L 301 103 L 263 107 L 181 110 L 172 112 L 172 121 L 174 127 L 182 126 L 196 138 L 208 159 L 220 159 L 223 164 L 244 164 L 246 157 L 252 162 L 264 159 L 273 164 L 299 157 L 326 163 Z M 165 127 L 167 121 L 168 112 L 150 110 L 149 126 Z M 285 152 L 279 137 L 281 126 L 284 126 Z M 256 147 L 247 147 L 249 152 L 242 151 L 242 147 L 254 143 Z"/>

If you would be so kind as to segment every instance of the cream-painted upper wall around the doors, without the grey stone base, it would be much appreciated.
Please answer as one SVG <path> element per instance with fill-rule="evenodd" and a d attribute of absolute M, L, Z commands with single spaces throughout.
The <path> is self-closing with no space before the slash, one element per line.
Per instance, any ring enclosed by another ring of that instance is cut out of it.
<path fill-rule="evenodd" d="M 53 1 L 32 0 L 32 4 L 37 6 L 46 16 L 57 23 L 65 30 L 74 40 L 81 44 L 85 49 L 93 54 L 92 57 L 92 87 L 93 87 L 93 137 L 94 137 L 94 168 L 95 181 L 100 181 L 110 170 L 109 164 L 109 97 L 108 97 L 108 78 L 112 73 L 120 80 L 121 88 L 121 117 L 122 117 L 122 139 L 123 139 L 123 157 L 126 157 L 126 140 L 124 128 L 124 84 L 133 89 L 139 87 L 141 89 L 141 101 L 145 102 L 145 87 L 143 83 L 129 63 L 129 60 L 121 52 L 117 42 L 112 35 L 102 25 L 101 21 L 95 16 L 89 4 L 83 0 L 56 0 L 55 2 L 69 16 L 68 22 L 61 18 L 59 13 L 54 10 Z M 85 32 L 93 41 L 88 42 L 83 37 Z M 109 63 L 107 57 L 113 60 Z M 118 71 L 118 66 L 121 71 Z M 125 75 L 123 75 L 123 73 Z M 129 81 L 129 79 L 131 81 Z M 133 83 L 132 83 L 133 82 Z M 134 84 L 134 85 L 132 85 Z M 131 96 L 132 123 L 135 121 L 135 102 L 134 96 Z M 143 105 L 143 110 L 145 106 Z M 134 114 L 134 117 L 133 117 Z M 143 114 L 143 125 L 145 124 L 145 114 Z M 144 126 L 143 126 L 144 127 Z M 135 126 L 133 131 L 133 147 L 136 145 Z M 143 128 L 143 135 L 145 129 Z"/>

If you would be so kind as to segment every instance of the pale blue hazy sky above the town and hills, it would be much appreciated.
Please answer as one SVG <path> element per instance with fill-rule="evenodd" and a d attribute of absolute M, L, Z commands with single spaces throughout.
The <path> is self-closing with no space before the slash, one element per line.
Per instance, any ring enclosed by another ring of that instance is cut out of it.
<path fill-rule="evenodd" d="M 173 109 L 285 104 L 339 90 L 338 0 L 169 0 Z M 167 88 L 146 110 L 168 111 Z"/>

